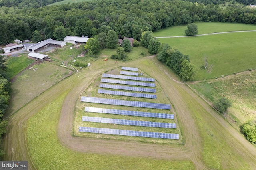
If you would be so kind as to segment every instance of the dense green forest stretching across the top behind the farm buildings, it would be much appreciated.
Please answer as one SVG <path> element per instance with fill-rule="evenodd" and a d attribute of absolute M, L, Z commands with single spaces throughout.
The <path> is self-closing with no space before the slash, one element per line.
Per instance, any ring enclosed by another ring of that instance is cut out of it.
<path fill-rule="evenodd" d="M 47 38 L 63 40 L 66 35 L 92 37 L 112 29 L 119 38 L 140 40 L 143 31 L 192 22 L 256 24 L 256 10 L 250 8 L 179 0 L 97 0 L 21 9 L 2 6 L 0 14 L 2 45 L 15 39 L 38 42 Z"/>

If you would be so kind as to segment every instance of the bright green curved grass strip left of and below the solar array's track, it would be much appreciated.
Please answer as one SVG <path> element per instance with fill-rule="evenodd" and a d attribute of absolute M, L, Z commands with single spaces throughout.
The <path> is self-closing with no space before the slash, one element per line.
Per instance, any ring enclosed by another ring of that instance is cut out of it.
<path fill-rule="evenodd" d="M 56 132 L 65 95 L 63 92 L 28 121 L 28 150 L 37 169 L 195 169 L 191 161 L 88 154 L 65 148 Z"/>

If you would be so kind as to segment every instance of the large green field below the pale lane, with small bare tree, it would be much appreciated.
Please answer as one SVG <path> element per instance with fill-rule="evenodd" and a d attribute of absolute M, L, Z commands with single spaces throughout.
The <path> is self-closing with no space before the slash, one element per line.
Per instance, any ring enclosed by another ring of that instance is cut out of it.
<path fill-rule="evenodd" d="M 255 32 L 236 32 L 208 36 L 159 38 L 189 55 L 198 71 L 195 80 L 211 79 L 256 68 Z M 204 69 L 208 58 L 208 69 Z"/>

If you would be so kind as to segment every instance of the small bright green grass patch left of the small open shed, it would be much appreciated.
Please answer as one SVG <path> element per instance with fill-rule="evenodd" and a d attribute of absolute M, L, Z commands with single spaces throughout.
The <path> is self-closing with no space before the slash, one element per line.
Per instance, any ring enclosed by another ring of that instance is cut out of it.
<path fill-rule="evenodd" d="M 6 61 L 8 76 L 11 79 L 23 69 L 34 63 L 35 60 L 29 59 L 27 54 L 22 54 L 20 57 L 11 57 Z"/>

